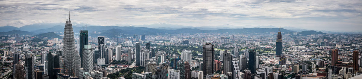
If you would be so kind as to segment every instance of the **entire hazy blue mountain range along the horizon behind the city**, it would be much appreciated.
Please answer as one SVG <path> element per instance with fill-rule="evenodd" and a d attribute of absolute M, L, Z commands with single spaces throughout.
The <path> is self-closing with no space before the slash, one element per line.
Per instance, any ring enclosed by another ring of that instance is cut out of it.
<path fill-rule="evenodd" d="M 43 34 L 43 37 L 49 37 L 48 35 L 62 34 L 64 32 L 64 23 L 53 23 L 53 24 L 32 24 L 22 26 L 20 28 L 13 26 L 0 26 L 1 35 L 13 34 L 19 32 L 18 34 L 29 34 L 38 36 L 38 34 Z M 54 26 L 51 26 L 54 25 Z M 78 24 L 79 25 L 79 24 Z M 84 24 L 85 25 L 85 24 Z M 144 27 L 140 27 L 144 26 Z M 219 26 L 182 26 L 182 25 L 172 25 L 172 24 L 152 24 L 152 25 L 140 25 L 140 26 L 73 26 L 75 35 L 78 34 L 79 30 L 87 29 L 89 36 L 108 36 L 114 37 L 116 35 L 126 34 L 142 34 L 142 35 L 156 35 L 156 34 L 177 34 L 177 33 L 272 33 L 278 32 L 279 28 L 275 26 L 257 26 L 260 28 L 250 28 L 251 26 L 234 26 L 234 25 L 219 25 Z M 157 28 L 157 26 L 159 26 Z M 166 26 L 169 26 L 166 28 Z M 175 27 L 171 27 L 175 26 Z M 152 27 L 152 28 L 145 28 Z M 162 28 L 164 27 L 164 28 Z M 294 30 L 290 30 L 294 29 Z M 11 30 L 11 31 L 9 31 Z M 299 31 L 296 31 L 299 30 Z M 305 29 L 299 29 L 294 27 L 283 27 L 282 32 L 302 32 Z M 320 34 L 320 33 L 302 33 L 304 34 Z"/>

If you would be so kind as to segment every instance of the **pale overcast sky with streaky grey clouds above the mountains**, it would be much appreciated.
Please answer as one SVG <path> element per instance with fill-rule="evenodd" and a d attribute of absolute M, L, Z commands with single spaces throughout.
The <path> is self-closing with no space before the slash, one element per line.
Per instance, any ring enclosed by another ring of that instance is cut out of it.
<path fill-rule="evenodd" d="M 0 26 L 72 22 L 92 25 L 273 25 L 362 30 L 362 0 L 0 0 Z"/>

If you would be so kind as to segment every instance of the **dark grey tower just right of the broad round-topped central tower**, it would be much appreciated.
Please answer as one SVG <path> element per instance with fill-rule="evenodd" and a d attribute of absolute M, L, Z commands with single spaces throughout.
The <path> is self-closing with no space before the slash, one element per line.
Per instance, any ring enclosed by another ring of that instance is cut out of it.
<path fill-rule="evenodd" d="M 227 50 L 224 50 L 224 65 L 223 65 L 223 72 L 226 74 L 227 72 L 231 72 L 231 66 L 232 66 L 232 55 L 230 52 L 227 52 Z"/>

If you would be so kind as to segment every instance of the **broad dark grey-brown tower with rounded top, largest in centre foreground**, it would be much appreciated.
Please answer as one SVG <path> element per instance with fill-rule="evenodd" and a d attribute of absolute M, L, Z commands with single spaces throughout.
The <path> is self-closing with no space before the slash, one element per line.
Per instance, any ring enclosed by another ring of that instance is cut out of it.
<path fill-rule="evenodd" d="M 202 46 L 202 62 L 203 62 L 203 74 L 214 74 L 214 59 L 215 59 L 215 49 L 214 45 L 211 43 L 206 43 Z"/>

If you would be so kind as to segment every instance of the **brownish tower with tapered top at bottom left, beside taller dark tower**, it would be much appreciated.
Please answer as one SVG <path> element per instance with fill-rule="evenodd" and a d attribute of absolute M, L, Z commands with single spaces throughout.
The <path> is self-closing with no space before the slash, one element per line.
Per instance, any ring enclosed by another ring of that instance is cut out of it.
<path fill-rule="evenodd" d="M 21 64 L 21 62 L 17 62 L 14 67 L 14 79 L 25 79 L 23 64 Z"/>

